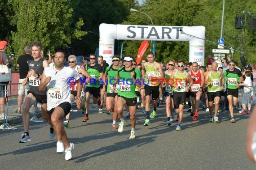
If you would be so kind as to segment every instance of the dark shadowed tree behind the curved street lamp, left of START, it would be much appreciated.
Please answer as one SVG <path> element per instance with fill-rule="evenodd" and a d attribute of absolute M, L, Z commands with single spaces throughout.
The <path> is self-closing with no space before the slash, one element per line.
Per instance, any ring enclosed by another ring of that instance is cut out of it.
<path fill-rule="evenodd" d="M 72 39 L 76 54 L 94 53 L 99 47 L 99 26 L 102 23 L 120 24 L 127 19 L 133 0 L 80 0 L 75 6 L 74 19 L 83 18 L 86 24 L 81 30 L 90 31 L 81 40 Z M 116 43 L 115 47 L 118 47 Z"/>

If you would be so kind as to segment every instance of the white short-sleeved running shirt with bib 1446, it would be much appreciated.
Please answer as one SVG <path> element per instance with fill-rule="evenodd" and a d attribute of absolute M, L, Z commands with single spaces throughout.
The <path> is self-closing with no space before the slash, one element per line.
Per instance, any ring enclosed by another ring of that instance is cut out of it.
<path fill-rule="evenodd" d="M 70 85 L 67 84 L 66 80 L 69 77 L 79 80 L 79 74 L 74 69 L 68 67 L 62 68 L 57 73 L 54 67 L 44 68 L 44 74 L 46 77 L 52 77 L 46 86 L 47 110 L 51 110 L 63 102 L 71 103 Z"/>

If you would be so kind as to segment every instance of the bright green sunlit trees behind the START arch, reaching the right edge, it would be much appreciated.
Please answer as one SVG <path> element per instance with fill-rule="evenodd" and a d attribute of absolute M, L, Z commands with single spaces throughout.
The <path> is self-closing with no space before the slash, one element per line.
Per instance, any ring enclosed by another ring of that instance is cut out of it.
<path fill-rule="evenodd" d="M 220 0 L 146 0 L 141 6 L 134 8 L 147 13 L 153 20 L 155 26 L 205 26 L 207 40 L 217 43 L 221 35 L 222 2 Z M 238 11 L 255 12 L 254 2 L 225 1 L 225 18 L 223 36 L 225 46 L 233 47 L 241 51 L 242 30 L 234 29 L 234 17 Z M 130 13 L 128 25 L 151 25 L 150 19 L 141 13 Z M 247 16 L 248 24 L 248 16 Z M 245 29 L 244 52 L 247 63 L 256 63 L 255 56 L 255 31 Z M 125 53 L 136 56 L 141 41 L 125 41 Z M 188 42 L 156 42 L 156 60 L 168 61 L 168 59 L 189 60 Z M 205 56 L 212 54 L 212 49 L 217 45 L 205 42 Z M 152 47 L 148 50 L 152 50 Z M 213 54 L 212 54 L 213 55 Z M 144 56 L 145 58 L 145 56 Z M 240 53 L 234 52 L 234 60 L 240 62 Z M 207 59 L 207 58 L 206 58 Z"/>

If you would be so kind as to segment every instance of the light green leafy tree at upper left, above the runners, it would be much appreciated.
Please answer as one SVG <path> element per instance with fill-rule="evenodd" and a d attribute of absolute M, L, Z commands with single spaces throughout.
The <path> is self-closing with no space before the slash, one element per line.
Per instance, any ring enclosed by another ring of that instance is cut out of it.
<path fill-rule="evenodd" d="M 70 0 L 9 0 L 9 4 L 13 4 L 15 11 L 12 24 L 17 26 L 17 31 L 12 31 L 12 35 L 17 55 L 35 40 L 40 40 L 45 50 L 54 50 L 70 44 L 71 38 L 86 34 L 80 31 L 84 25 L 82 19 L 71 28 L 74 4 Z"/>

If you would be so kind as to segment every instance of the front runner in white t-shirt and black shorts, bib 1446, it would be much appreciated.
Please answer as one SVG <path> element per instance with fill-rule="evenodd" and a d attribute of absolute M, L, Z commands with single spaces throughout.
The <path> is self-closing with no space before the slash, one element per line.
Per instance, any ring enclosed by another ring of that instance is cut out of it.
<path fill-rule="evenodd" d="M 72 158 L 72 151 L 75 145 L 69 143 L 67 134 L 63 126 L 63 118 L 70 112 L 71 109 L 71 93 L 70 84 L 66 81 L 73 77 L 77 82 L 77 104 L 81 103 L 80 76 L 72 68 L 65 67 L 65 54 L 62 51 L 57 51 L 54 57 L 54 67 L 45 68 L 42 74 L 42 81 L 39 86 L 40 91 L 47 90 L 47 110 L 53 122 L 54 130 L 57 136 L 57 153 L 65 152 L 65 159 Z"/>

